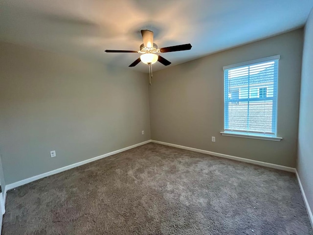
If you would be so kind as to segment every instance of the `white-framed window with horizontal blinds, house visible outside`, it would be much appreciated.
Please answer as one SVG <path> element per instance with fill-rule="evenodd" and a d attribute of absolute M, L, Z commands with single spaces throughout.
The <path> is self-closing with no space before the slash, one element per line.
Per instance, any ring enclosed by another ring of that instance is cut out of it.
<path fill-rule="evenodd" d="M 222 134 L 276 137 L 279 58 L 271 56 L 223 68 Z"/>

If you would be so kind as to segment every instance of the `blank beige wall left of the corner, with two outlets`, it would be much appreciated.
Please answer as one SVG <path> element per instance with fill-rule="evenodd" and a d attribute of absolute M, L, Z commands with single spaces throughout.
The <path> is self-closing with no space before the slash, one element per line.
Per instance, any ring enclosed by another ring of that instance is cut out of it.
<path fill-rule="evenodd" d="M 0 51 L 7 184 L 150 140 L 145 74 L 7 43 Z"/>

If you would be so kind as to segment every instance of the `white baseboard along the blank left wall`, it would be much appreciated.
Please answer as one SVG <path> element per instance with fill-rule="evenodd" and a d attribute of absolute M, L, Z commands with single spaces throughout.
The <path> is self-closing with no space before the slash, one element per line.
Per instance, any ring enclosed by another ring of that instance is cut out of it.
<path fill-rule="evenodd" d="M 6 194 L 6 192 L 8 190 L 10 190 L 10 189 L 17 188 L 19 186 L 22 186 L 22 185 L 28 184 L 30 182 L 33 182 L 33 181 L 45 178 L 47 176 L 54 175 L 54 174 L 60 173 L 62 171 L 66 171 L 66 170 L 69 170 L 71 168 L 74 168 L 74 167 L 77 167 L 77 166 L 80 166 L 80 165 L 88 164 L 88 163 L 97 161 L 99 159 L 102 159 L 102 158 L 105 158 L 105 157 L 109 157 L 111 155 L 114 155 L 114 154 L 117 154 L 117 153 L 120 153 L 120 152 L 124 152 L 126 150 L 129 150 L 129 149 L 132 149 L 132 148 L 135 148 L 135 147 L 138 147 L 140 145 L 143 145 L 143 144 L 146 144 L 146 143 L 150 143 L 150 142 L 151 142 L 151 140 L 144 141 L 144 142 L 141 142 L 141 143 L 137 143 L 137 144 L 134 144 L 132 146 L 128 146 L 128 147 L 125 147 L 125 148 L 122 148 L 122 149 L 119 149 L 119 150 L 116 150 L 116 151 L 113 151 L 113 152 L 110 152 L 110 153 L 106 153 L 106 154 L 103 154 L 103 155 L 98 156 L 98 157 L 90 158 L 90 159 L 87 159 L 87 160 L 79 162 L 79 163 L 74 163 L 74 164 L 71 164 L 71 165 L 67 165 L 67 166 L 64 166 L 64 167 L 61 167 L 61 168 L 58 168 L 58 169 L 55 169 L 55 170 L 51 170 L 51 171 L 45 172 L 45 173 L 40 174 L 40 175 L 35 175 L 33 177 L 30 177 L 30 178 L 27 178 L 27 179 L 24 179 L 24 180 L 21 180 L 21 181 L 18 181 L 18 182 L 14 182 L 12 184 L 8 184 L 8 185 L 5 186 L 4 192 Z"/>

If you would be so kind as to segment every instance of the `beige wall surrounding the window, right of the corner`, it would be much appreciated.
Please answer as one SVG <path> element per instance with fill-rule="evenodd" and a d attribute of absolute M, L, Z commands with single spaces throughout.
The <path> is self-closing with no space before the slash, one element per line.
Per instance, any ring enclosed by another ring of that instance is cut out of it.
<path fill-rule="evenodd" d="M 152 139 L 295 167 L 302 48 L 303 30 L 298 29 L 155 72 L 149 88 Z M 281 55 L 277 135 L 284 139 L 221 136 L 223 66 L 277 54 Z M 212 136 L 216 142 L 211 142 Z"/>

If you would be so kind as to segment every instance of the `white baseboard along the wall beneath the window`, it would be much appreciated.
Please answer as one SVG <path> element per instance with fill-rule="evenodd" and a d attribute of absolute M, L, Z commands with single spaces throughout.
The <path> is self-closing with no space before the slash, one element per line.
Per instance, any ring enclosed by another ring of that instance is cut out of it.
<path fill-rule="evenodd" d="M 168 146 L 172 146 L 172 147 L 176 147 L 176 148 L 186 149 L 186 150 L 190 150 L 190 151 L 194 151 L 194 152 L 204 153 L 204 154 L 208 154 L 208 155 L 212 155 L 212 156 L 216 156 L 216 157 L 227 158 L 227 159 L 245 162 L 245 163 L 251 163 L 251 164 L 255 164 L 255 165 L 262 165 L 262 166 L 266 166 L 266 167 L 270 167 L 270 168 L 274 168 L 274 169 L 285 170 L 285 171 L 295 173 L 295 168 L 284 166 L 284 165 L 277 165 L 277 164 L 265 163 L 265 162 L 260 162 L 260 161 L 256 161 L 256 160 L 246 159 L 246 158 L 239 158 L 239 157 L 235 157 L 235 156 L 231 156 L 231 155 L 226 155 L 226 154 L 222 154 L 222 153 L 215 153 L 215 152 L 202 150 L 202 149 L 198 149 L 198 148 L 186 147 L 186 146 L 182 146 L 182 145 L 178 145 L 178 144 L 174 144 L 174 143 L 166 143 L 166 142 L 154 141 L 154 140 L 152 140 L 151 142 L 159 143 L 159 144 L 163 144 L 163 145 L 168 145 Z"/>

